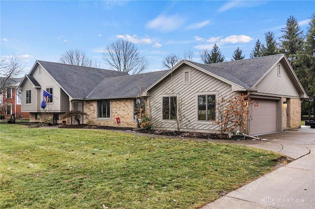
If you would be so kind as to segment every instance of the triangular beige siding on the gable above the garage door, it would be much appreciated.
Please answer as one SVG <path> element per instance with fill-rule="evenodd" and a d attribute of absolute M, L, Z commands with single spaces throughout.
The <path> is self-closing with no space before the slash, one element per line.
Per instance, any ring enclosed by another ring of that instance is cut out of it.
<path fill-rule="evenodd" d="M 277 66 L 280 65 L 281 74 L 277 73 Z M 267 94 L 277 94 L 282 95 L 284 97 L 300 97 L 299 90 L 296 86 L 293 85 L 292 79 L 287 71 L 290 69 L 285 69 L 284 65 L 279 62 L 276 64 L 271 71 L 255 86 L 256 89 L 260 93 Z"/>

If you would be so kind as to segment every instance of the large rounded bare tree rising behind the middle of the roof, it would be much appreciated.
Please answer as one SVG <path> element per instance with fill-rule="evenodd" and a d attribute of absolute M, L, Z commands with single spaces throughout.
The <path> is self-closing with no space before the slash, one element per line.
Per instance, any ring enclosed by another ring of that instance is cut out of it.
<path fill-rule="evenodd" d="M 140 56 L 133 43 L 126 40 L 117 40 L 107 45 L 103 59 L 111 69 L 132 74 L 140 74 L 149 67 L 148 60 Z"/>

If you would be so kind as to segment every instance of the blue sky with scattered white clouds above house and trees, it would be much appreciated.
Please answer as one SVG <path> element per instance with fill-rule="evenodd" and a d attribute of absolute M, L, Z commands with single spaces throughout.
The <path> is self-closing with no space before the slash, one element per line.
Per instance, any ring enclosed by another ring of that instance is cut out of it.
<path fill-rule="evenodd" d="M 199 51 L 214 44 L 229 61 L 239 47 L 245 58 L 265 32 L 283 35 L 289 16 L 304 34 L 315 13 L 312 0 L 1 0 L 1 59 L 19 56 L 29 71 L 35 60 L 58 62 L 66 50 L 79 49 L 109 69 L 105 47 L 118 39 L 135 44 L 150 62 L 146 72 L 162 69 L 170 54 Z"/>

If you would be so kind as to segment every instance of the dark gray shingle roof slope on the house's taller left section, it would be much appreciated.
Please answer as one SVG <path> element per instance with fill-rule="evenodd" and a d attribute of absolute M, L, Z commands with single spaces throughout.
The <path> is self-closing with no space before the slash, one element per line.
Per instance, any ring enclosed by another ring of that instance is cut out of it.
<path fill-rule="evenodd" d="M 86 98 L 102 79 L 128 75 L 126 72 L 39 61 L 41 66 L 74 99 Z"/>

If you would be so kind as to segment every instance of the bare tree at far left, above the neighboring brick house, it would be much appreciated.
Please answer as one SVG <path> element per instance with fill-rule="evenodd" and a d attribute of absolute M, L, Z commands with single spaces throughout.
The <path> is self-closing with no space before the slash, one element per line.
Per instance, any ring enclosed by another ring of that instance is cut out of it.
<path fill-rule="evenodd" d="M 14 78 L 22 76 L 25 73 L 25 66 L 17 56 L 11 56 L 10 60 L 1 60 L 0 62 L 0 94 L 3 90 L 12 85 Z"/>

